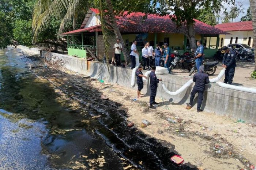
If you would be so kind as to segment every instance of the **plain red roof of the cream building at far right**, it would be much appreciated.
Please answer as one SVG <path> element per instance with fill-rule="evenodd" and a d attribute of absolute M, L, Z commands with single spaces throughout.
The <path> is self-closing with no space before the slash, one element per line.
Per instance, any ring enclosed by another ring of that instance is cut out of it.
<path fill-rule="evenodd" d="M 215 25 L 215 28 L 219 28 L 223 31 L 252 31 L 252 21 L 223 23 Z"/>

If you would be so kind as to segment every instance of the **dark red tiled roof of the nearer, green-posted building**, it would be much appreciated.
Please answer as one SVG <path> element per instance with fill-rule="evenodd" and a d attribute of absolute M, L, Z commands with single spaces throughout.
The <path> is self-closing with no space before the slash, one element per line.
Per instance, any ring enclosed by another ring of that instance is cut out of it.
<path fill-rule="evenodd" d="M 98 9 L 90 8 L 95 13 L 99 12 Z M 185 33 L 186 27 L 177 27 L 169 16 L 159 16 L 157 14 L 147 15 L 146 19 L 143 17 L 145 13 L 142 12 L 124 12 L 123 16 L 116 16 L 117 24 L 120 32 L 134 32 L 134 33 Z M 81 25 L 83 27 L 85 23 Z M 90 28 L 90 27 L 89 27 Z M 100 29 L 100 28 L 99 28 Z M 80 32 L 87 31 L 78 29 Z M 75 30 L 77 31 L 77 30 Z M 89 30 L 88 30 L 89 31 Z M 78 31 L 79 32 L 79 31 Z M 93 32 L 91 29 L 89 32 Z M 197 34 L 228 34 L 221 29 L 207 25 L 199 20 L 195 20 L 195 33 Z M 71 32 L 63 33 L 62 35 L 72 34 Z"/>

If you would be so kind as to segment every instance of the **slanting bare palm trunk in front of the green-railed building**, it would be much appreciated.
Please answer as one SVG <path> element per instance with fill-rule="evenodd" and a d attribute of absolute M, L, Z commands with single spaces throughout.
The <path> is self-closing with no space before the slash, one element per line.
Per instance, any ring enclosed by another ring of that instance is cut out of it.
<path fill-rule="evenodd" d="M 112 27 L 114 29 L 114 34 L 116 36 L 117 39 L 120 40 L 120 43 L 122 44 L 123 46 L 123 54 L 124 54 L 124 60 L 127 64 L 129 64 L 130 62 L 130 57 L 129 57 L 129 52 L 128 52 L 128 48 L 126 48 L 125 46 L 125 43 L 124 43 L 124 40 L 123 40 L 123 37 L 121 35 L 121 32 L 118 28 L 118 25 L 117 25 L 117 21 L 116 21 L 116 17 L 115 17 L 115 14 L 114 14 L 114 10 L 113 10 L 113 6 L 112 6 L 112 3 L 111 3 L 111 0 L 106 0 L 106 3 L 108 5 L 108 12 L 110 14 L 110 18 L 112 20 Z"/>

